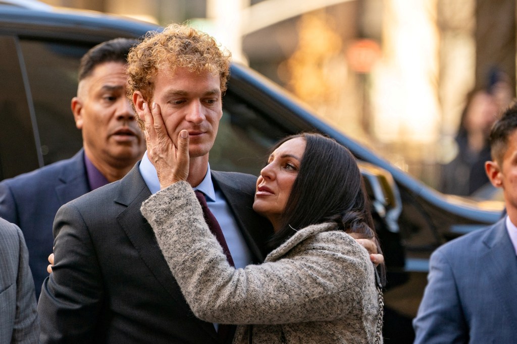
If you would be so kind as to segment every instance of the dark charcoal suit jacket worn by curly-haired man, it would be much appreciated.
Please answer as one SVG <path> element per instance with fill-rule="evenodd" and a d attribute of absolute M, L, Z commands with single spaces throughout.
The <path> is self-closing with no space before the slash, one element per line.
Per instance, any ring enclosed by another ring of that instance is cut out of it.
<path fill-rule="evenodd" d="M 57 212 L 56 264 L 38 304 L 43 342 L 218 342 L 214 325 L 193 316 L 140 213 L 150 192 L 138 165 Z M 252 209 L 256 177 L 212 178 L 261 261 L 272 229 Z"/>

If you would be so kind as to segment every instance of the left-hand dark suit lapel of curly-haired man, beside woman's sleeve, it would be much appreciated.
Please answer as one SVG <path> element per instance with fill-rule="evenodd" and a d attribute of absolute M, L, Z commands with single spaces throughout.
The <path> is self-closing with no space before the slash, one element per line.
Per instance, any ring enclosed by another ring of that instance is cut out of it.
<path fill-rule="evenodd" d="M 184 308 L 185 312 L 190 313 L 190 307 L 185 301 L 176 279 L 173 277 L 169 265 L 165 261 L 160 247 L 156 242 L 153 228 L 151 228 L 140 212 L 142 202 L 146 200 L 151 193 L 140 174 L 139 165 L 139 163 L 136 164 L 135 167 L 120 180 L 118 194 L 114 201 L 127 208 L 118 214 L 117 221 L 126 232 L 129 240 L 136 251 L 138 251 L 139 256 L 147 268 L 155 276 L 160 285 L 168 291 L 175 300 L 175 304 L 178 307 Z M 217 340 L 217 333 L 213 324 L 201 320 L 200 324 L 206 332 Z"/>

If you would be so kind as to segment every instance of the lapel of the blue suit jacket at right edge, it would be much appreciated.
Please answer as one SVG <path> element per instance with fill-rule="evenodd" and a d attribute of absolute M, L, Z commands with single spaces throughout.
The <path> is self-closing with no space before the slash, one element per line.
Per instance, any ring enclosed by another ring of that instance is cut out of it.
<path fill-rule="evenodd" d="M 487 278 L 493 281 L 494 292 L 501 300 L 510 323 L 517 323 L 517 300 L 514 298 L 517 285 L 517 258 L 508 235 L 505 219 L 499 221 L 494 230 L 483 239 L 486 254 L 480 257 L 486 269 Z"/>

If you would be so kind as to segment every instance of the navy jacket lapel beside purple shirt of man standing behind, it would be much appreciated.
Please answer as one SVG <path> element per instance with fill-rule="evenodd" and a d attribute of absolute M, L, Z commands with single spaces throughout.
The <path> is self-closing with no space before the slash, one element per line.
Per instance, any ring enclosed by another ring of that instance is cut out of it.
<path fill-rule="evenodd" d="M 62 184 L 56 186 L 56 194 L 60 204 L 65 204 L 89 192 L 86 170 L 84 167 L 84 150 L 75 154 L 61 170 L 59 181 Z"/>

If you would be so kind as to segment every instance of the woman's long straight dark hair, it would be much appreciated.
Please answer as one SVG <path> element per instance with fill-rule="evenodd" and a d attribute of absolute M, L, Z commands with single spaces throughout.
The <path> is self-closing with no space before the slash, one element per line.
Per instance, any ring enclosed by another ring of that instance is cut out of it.
<path fill-rule="evenodd" d="M 381 253 L 368 195 L 354 155 L 335 140 L 313 133 L 285 137 L 272 150 L 296 137 L 305 139 L 305 152 L 279 230 L 269 242 L 271 247 L 278 247 L 303 227 L 334 222 L 340 230 L 372 239 L 377 252 Z M 384 277 L 384 265 L 381 271 Z"/>

